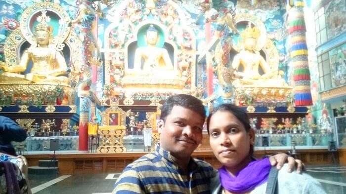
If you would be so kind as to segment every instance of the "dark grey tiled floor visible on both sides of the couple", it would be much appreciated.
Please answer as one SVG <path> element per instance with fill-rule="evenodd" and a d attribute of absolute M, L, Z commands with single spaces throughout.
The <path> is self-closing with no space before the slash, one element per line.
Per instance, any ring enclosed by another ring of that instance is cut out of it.
<path fill-rule="evenodd" d="M 327 194 L 346 194 L 346 166 L 308 166 L 306 169 L 321 182 Z M 109 194 L 117 177 L 119 173 L 29 175 L 34 194 Z"/>

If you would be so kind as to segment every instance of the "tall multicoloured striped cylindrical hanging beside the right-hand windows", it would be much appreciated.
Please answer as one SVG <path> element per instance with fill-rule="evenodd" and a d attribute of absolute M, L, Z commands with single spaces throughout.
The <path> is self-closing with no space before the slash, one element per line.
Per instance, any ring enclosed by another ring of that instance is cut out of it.
<path fill-rule="evenodd" d="M 296 106 L 312 105 L 303 7 L 303 0 L 295 0 L 294 7 L 289 10 L 288 16 L 290 57 L 294 67 L 293 80 Z"/>

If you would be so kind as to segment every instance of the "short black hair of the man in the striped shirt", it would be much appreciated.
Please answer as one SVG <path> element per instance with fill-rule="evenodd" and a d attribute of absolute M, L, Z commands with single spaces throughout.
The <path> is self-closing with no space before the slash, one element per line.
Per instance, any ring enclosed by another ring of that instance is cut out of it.
<path fill-rule="evenodd" d="M 187 94 L 176 94 L 170 96 L 162 106 L 160 119 L 166 121 L 166 117 L 171 113 L 174 106 L 190 109 L 202 116 L 203 119 L 206 117 L 206 110 L 200 99 Z"/>

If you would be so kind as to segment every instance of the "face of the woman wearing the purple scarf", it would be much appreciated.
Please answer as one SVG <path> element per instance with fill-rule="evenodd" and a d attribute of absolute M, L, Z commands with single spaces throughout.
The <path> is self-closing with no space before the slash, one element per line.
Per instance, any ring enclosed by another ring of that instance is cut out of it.
<path fill-rule="evenodd" d="M 209 143 L 217 160 L 227 167 L 236 167 L 249 158 L 255 133 L 246 132 L 243 123 L 228 111 L 217 111 L 209 123 Z"/>

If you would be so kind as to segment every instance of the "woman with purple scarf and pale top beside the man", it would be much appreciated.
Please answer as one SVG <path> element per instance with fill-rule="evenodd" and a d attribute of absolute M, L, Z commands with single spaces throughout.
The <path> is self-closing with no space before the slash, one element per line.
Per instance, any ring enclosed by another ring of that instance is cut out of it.
<path fill-rule="evenodd" d="M 223 165 L 213 181 L 213 194 L 265 194 L 271 165 L 268 158 L 253 156 L 255 132 L 246 112 L 223 104 L 208 116 L 207 127 L 210 146 Z M 279 194 L 325 194 L 311 176 L 287 171 L 284 165 L 278 173 Z"/>

